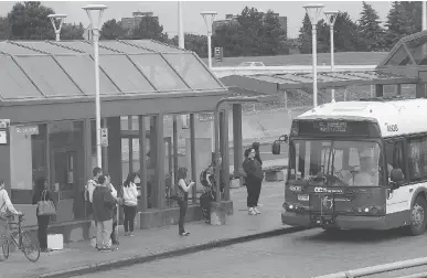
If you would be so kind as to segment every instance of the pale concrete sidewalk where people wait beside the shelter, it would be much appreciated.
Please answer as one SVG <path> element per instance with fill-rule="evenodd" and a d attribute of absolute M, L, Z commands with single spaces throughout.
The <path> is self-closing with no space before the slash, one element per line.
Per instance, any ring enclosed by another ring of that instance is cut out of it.
<path fill-rule="evenodd" d="M 189 237 L 179 236 L 177 225 L 139 229 L 135 237 L 124 237 L 121 231 L 117 252 L 100 253 L 92 248 L 88 242 L 73 243 L 63 250 L 41 254 L 35 264 L 29 263 L 23 254 L 13 253 L 8 260 L 0 261 L 0 277 L 72 277 L 300 231 L 286 227 L 280 222 L 282 182 L 263 184 L 260 203 L 264 206 L 260 207 L 260 215 L 247 214 L 245 189 L 233 190 L 232 200 L 234 215 L 228 216 L 226 225 L 189 223 L 185 225 L 191 233 Z"/>

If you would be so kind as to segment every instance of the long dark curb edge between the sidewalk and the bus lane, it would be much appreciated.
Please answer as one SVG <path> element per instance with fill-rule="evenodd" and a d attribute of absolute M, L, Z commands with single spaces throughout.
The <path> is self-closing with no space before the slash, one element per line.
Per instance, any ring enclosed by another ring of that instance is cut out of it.
<path fill-rule="evenodd" d="M 65 277 L 74 277 L 74 276 L 82 276 L 87 274 L 93 274 L 97 271 L 107 271 L 109 269 L 117 269 L 119 267 L 126 267 L 131 266 L 136 264 L 143 264 L 143 263 L 150 263 L 158 259 L 164 259 L 170 257 L 178 257 L 183 256 L 192 253 L 198 253 L 201 250 L 207 250 L 218 247 L 225 247 L 233 244 L 239 244 L 245 242 L 252 242 L 256 239 L 267 238 L 267 237 L 274 237 L 279 235 L 286 235 L 291 233 L 297 233 L 301 231 L 309 229 L 307 227 L 282 227 L 282 228 L 276 228 L 273 231 L 261 232 L 258 234 L 253 235 L 246 235 L 246 236 L 238 236 L 238 237 L 232 237 L 232 238 L 225 238 L 225 239 L 216 239 L 204 244 L 198 244 L 190 247 L 179 248 L 179 249 L 172 249 L 167 252 L 160 252 L 154 253 L 150 255 L 137 255 L 115 260 L 108 260 L 103 261 L 94 265 L 87 265 L 82 267 L 76 267 L 72 269 L 65 269 L 60 270 L 50 274 L 43 274 L 33 276 L 34 278 L 65 278 Z"/>

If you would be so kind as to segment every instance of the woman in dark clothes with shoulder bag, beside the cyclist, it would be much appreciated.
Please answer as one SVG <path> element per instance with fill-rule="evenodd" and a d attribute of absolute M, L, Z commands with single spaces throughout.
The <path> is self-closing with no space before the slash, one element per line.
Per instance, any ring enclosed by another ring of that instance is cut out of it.
<path fill-rule="evenodd" d="M 44 178 L 39 178 L 35 181 L 35 189 L 33 194 L 33 205 L 38 204 L 39 201 L 53 201 L 51 196 L 51 192 L 47 190 L 47 181 Z M 38 237 L 40 243 L 40 250 L 47 253 L 52 249 L 47 248 L 47 226 L 50 222 L 49 215 L 39 215 L 39 207 L 35 212 L 38 216 Z"/>

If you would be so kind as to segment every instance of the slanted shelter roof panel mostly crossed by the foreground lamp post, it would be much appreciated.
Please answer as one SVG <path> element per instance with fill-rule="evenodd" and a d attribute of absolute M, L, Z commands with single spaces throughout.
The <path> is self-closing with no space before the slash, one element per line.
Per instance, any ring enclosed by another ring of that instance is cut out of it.
<path fill-rule="evenodd" d="M 56 56 L 56 60 L 83 92 L 95 95 L 95 66 L 89 55 Z M 99 93 L 105 95 L 119 93 L 103 71 L 99 71 Z"/>

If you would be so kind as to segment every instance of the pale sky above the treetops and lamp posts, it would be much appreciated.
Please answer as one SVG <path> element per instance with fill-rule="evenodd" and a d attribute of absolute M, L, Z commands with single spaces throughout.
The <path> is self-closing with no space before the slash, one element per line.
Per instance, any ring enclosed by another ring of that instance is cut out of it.
<path fill-rule="evenodd" d="M 43 4 L 54 9 L 56 13 L 67 14 L 66 22 L 82 22 L 88 25 L 89 20 L 82 7 L 88 3 L 103 3 L 108 7 L 103 17 L 103 22 L 121 18 L 130 18 L 134 11 L 152 11 L 159 17 L 169 36 L 178 34 L 178 2 L 177 1 L 42 1 Z M 360 18 L 362 1 L 312 1 L 323 3 L 323 11 L 337 10 L 348 12 L 353 20 Z M 15 1 L 0 0 L 0 15 L 6 15 Z M 305 17 L 305 1 L 183 1 L 183 28 L 186 33 L 206 34 L 206 25 L 201 11 L 216 11 L 215 20 L 225 19 L 225 14 L 238 14 L 245 8 L 255 7 L 260 11 L 274 10 L 280 15 L 288 17 L 288 38 L 297 38 Z M 381 20 L 385 20 L 391 8 L 388 1 L 369 1 L 376 10 Z"/>

